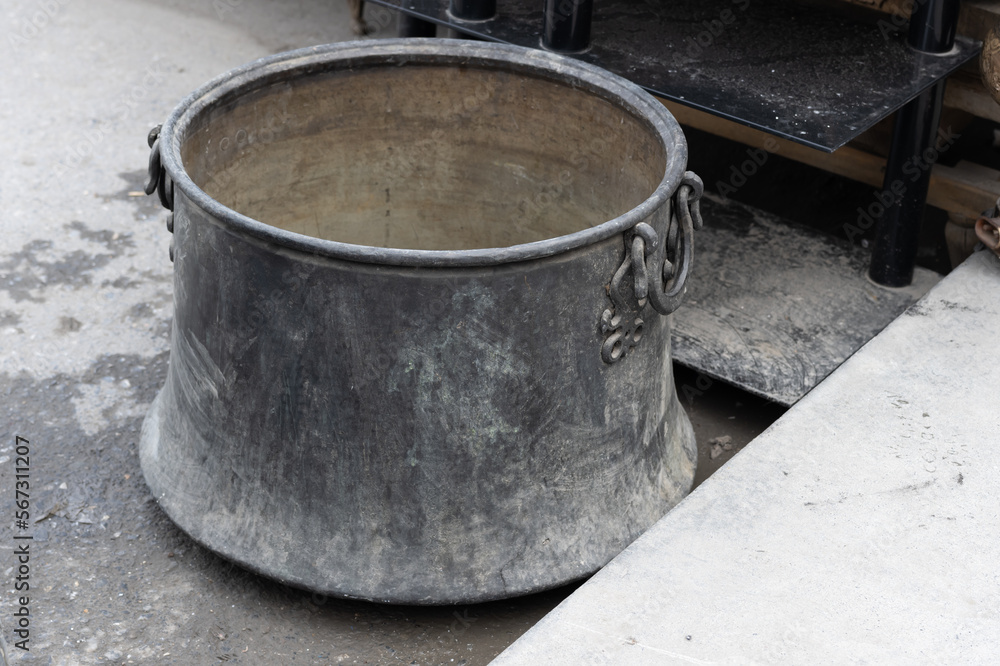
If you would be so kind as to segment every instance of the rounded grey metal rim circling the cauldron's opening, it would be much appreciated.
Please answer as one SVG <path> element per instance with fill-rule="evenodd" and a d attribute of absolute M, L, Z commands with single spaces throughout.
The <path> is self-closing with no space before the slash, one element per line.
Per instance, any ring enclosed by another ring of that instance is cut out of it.
<path fill-rule="evenodd" d="M 180 155 L 180 138 L 189 123 L 221 100 L 269 79 L 300 71 L 376 64 L 458 64 L 506 69 L 542 76 L 554 83 L 584 89 L 617 104 L 651 126 L 666 154 L 664 175 L 639 205 L 601 224 L 570 234 L 506 247 L 470 250 L 412 250 L 357 245 L 286 231 L 239 213 L 210 197 L 188 176 Z M 164 146 L 166 148 L 164 148 Z M 457 39 L 385 39 L 307 47 L 260 58 L 205 83 L 184 98 L 160 130 L 163 168 L 174 187 L 232 231 L 310 254 L 391 266 L 490 266 L 539 259 L 591 245 L 634 227 L 663 206 L 680 185 L 687 165 L 687 142 L 667 108 L 638 85 L 594 65 L 548 51 L 512 44 Z"/>

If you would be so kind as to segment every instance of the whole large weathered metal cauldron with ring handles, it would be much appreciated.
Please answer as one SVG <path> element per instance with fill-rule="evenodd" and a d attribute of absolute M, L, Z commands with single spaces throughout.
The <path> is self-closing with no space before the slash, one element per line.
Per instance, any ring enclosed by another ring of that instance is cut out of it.
<path fill-rule="evenodd" d="M 658 311 L 700 183 L 639 88 L 345 43 L 212 81 L 150 142 L 176 310 L 141 463 L 198 542 L 324 594 L 484 601 L 592 573 L 690 489 Z"/>

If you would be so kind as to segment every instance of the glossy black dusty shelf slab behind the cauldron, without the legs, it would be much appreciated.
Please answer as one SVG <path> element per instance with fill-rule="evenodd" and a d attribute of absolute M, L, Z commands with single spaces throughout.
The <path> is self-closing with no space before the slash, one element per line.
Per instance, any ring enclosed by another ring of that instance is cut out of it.
<path fill-rule="evenodd" d="M 448 0 L 369 0 L 483 39 L 540 48 L 542 0 L 498 0 L 460 22 Z M 567 0 L 571 2 L 572 0 Z M 590 49 L 574 55 L 654 95 L 832 152 L 979 52 L 905 42 L 886 15 L 789 0 L 595 0 Z"/>

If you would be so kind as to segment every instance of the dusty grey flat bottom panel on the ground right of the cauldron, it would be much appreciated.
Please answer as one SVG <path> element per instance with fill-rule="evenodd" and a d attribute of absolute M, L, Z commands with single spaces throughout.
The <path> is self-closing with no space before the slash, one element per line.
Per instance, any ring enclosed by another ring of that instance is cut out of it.
<path fill-rule="evenodd" d="M 867 278 L 866 249 L 706 194 L 674 359 L 791 405 L 940 278 L 905 289 Z"/>

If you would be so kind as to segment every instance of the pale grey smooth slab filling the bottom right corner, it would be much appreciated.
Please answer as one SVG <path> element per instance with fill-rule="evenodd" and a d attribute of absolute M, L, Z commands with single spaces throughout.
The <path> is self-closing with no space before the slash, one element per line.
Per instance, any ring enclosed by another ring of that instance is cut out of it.
<path fill-rule="evenodd" d="M 996 664 L 998 290 L 974 254 L 494 663 Z"/>

